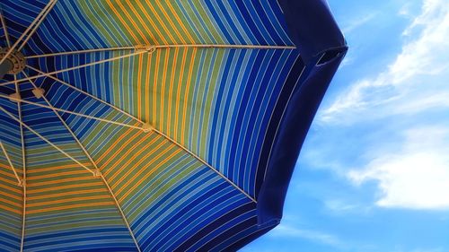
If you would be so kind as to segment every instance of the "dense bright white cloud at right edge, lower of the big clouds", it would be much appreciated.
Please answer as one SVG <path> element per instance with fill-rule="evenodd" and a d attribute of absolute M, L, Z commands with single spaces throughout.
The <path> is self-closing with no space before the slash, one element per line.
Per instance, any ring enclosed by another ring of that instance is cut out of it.
<path fill-rule="evenodd" d="M 449 128 L 405 132 L 397 153 L 384 153 L 348 177 L 356 184 L 378 182 L 381 207 L 449 209 Z"/>

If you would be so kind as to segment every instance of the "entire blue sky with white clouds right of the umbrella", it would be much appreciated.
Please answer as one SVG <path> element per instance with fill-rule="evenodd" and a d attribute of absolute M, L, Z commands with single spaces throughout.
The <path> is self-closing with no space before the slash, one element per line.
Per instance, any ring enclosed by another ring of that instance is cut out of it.
<path fill-rule="evenodd" d="M 242 251 L 449 251 L 449 4 L 329 4 L 350 51 L 282 223 Z"/>

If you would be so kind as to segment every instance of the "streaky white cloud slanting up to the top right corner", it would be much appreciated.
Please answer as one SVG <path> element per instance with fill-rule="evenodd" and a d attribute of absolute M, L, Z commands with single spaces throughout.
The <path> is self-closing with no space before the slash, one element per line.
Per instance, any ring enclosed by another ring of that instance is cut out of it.
<path fill-rule="evenodd" d="M 422 11 L 403 31 L 401 53 L 374 78 L 357 81 L 319 115 L 322 122 L 342 123 L 360 115 L 374 117 L 449 108 L 449 4 L 424 0 Z M 431 96 L 430 94 L 439 95 Z M 424 107 L 409 106 L 424 104 Z"/>

